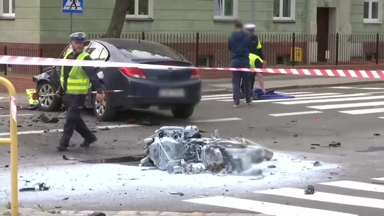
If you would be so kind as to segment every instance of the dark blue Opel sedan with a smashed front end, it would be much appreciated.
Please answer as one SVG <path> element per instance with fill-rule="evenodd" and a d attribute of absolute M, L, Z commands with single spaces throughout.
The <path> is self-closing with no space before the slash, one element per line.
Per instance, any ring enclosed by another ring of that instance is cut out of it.
<path fill-rule="evenodd" d="M 72 51 L 71 45 L 61 53 L 60 58 Z M 93 60 L 153 65 L 193 66 L 182 55 L 171 48 L 154 42 L 134 39 L 96 39 L 84 45 L 84 51 Z M 60 85 L 61 66 L 45 69 L 33 76 L 39 95 L 38 107 L 42 111 L 56 111 L 62 99 L 43 96 L 56 92 Z M 176 118 L 189 118 L 195 105 L 201 100 L 201 78 L 199 70 L 139 69 L 139 68 L 98 68 L 103 90 L 124 90 L 107 93 L 105 101 L 98 101 L 95 94 L 88 94 L 86 107 L 92 107 L 95 115 L 104 121 L 113 120 L 119 110 L 132 108 L 148 109 L 157 106 L 170 109 Z M 89 85 L 89 91 L 94 91 Z"/>

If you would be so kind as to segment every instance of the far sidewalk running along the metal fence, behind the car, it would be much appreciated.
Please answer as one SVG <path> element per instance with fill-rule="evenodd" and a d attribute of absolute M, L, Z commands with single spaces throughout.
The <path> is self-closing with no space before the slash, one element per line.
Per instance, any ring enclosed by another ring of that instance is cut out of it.
<path fill-rule="evenodd" d="M 354 77 L 332 77 L 332 76 L 304 76 L 304 75 L 276 75 L 264 76 L 266 90 L 286 90 L 298 88 L 315 88 L 325 86 L 347 86 L 347 85 L 369 85 L 384 83 L 384 79 L 354 78 Z M 259 86 L 255 81 L 255 86 Z M 202 81 L 202 94 L 214 95 L 232 92 L 231 79 L 212 79 Z M 2 97 L 8 97 L 8 93 L 0 93 L 0 103 Z M 8 100 L 9 101 L 9 100 Z M 18 104 L 27 104 L 28 98 L 25 92 L 17 93 Z"/>

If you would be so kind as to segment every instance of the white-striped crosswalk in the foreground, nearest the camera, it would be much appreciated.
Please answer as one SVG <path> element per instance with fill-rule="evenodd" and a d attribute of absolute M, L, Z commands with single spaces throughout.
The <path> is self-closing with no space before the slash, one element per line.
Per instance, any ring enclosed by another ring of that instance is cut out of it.
<path fill-rule="evenodd" d="M 372 178 L 375 181 L 384 181 L 384 178 Z M 371 181 L 372 182 L 372 181 Z M 367 215 L 384 215 L 384 210 L 379 210 L 382 214 L 369 214 L 370 211 L 384 209 L 384 198 L 377 196 L 377 193 L 384 193 L 384 182 L 364 183 L 359 181 L 331 181 L 318 183 L 322 185 L 320 190 L 315 185 L 313 194 L 305 194 L 304 189 L 300 188 L 276 188 L 255 191 L 252 193 L 251 199 L 242 199 L 235 197 L 214 196 L 207 198 L 187 199 L 185 202 L 205 204 L 211 206 L 222 206 L 233 209 L 242 209 L 247 211 L 260 212 L 274 216 L 367 216 Z M 345 191 L 347 189 L 348 191 Z M 331 193 L 324 192 L 331 191 Z M 340 191 L 337 193 L 336 191 Z M 361 196 L 346 195 L 348 193 L 358 194 Z M 372 194 L 375 198 L 369 198 L 367 193 Z M 376 194 L 376 195 L 374 195 Z M 265 197 L 263 195 L 267 195 Z M 249 197 L 247 195 L 247 197 Z M 377 197 L 380 197 L 379 199 Z M 254 200 L 255 199 L 255 200 Z M 263 201 L 263 199 L 268 199 Z M 268 202 L 273 200 L 273 202 Z M 283 201 L 281 201 L 283 200 Z M 286 202 L 288 201 L 288 202 Z M 308 201 L 307 203 L 303 201 Z M 285 204 L 281 204 L 284 202 Z M 290 204 L 290 203 L 296 204 Z M 333 209 L 329 208 L 330 204 L 336 205 Z M 356 214 L 354 208 L 345 208 L 346 206 L 356 206 L 358 208 L 372 208 L 371 210 L 363 209 L 359 212 L 365 214 Z M 308 208 L 306 206 L 315 206 Z M 334 211 L 337 209 L 337 211 Z"/>

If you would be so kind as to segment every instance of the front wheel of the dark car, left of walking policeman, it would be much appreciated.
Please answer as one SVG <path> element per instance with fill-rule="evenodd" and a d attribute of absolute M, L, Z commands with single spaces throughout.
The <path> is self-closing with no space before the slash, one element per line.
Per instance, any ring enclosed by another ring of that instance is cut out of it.
<path fill-rule="evenodd" d="M 61 98 L 56 96 L 40 97 L 40 95 L 55 94 L 56 91 L 57 87 L 49 81 L 41 81 L 38 84 L 36 93 L 39 95 L 39 103 L 37 105 L 39 110 L 44 112 L 52 112 L 57 111 L 61 107 L 63 103 Z"/>

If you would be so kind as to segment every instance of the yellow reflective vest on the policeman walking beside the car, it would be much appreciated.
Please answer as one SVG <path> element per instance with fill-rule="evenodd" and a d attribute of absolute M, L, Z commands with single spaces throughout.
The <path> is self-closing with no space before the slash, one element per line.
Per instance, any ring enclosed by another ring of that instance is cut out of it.
<path fill-rule="evenodd" d="M 70 52 L 71 53 L 71 52 Z M 64 56 L 68 57 L 70 53 Z M 81 53 L 76 60 L 84 60 L 88 53 Z M 64 88 L 64 66 L 61 67 L 60 84 Z M 68 77 L 66 93 L 72 95 L 86 95 L 89 88 L 89 78 L 81 66 L 73 66 Z"/>

